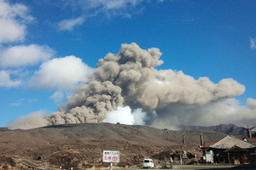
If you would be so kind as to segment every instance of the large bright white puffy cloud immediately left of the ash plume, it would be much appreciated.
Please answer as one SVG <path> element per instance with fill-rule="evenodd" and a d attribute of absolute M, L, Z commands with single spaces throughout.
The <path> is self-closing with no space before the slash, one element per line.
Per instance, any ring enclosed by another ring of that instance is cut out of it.
<path fill-rule="evenodd" d="M 70 89 L 86 81 L 92 69 L 75 56 L 56 58 L 40 65 L 32 76 L 29 86 L 33 88 Z"/>

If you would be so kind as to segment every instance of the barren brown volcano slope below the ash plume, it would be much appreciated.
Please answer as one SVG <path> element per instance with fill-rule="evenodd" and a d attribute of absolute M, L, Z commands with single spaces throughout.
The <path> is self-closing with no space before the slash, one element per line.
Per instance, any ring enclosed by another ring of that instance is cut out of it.
<path fill-rule="evenodd" d="M 0 132 L 0 169 L 29 169 L 24 160 L 42 167 L 103 168 L 103 150 L 120 150 L 117 167 L 142 167 L 144 157 L 155 161 L 180 154 L 201 156 L 198 131 L 171 131 L 154 127 L 110 123 L 81 123 Z M 182 144 L 182 134 L 186 144 Z M 217 141 L 224 133 L 204 132 Z M 164 156 L 164 157 L 165 157 Z M 18 160 L 18 161 L 17 161 Z"/>

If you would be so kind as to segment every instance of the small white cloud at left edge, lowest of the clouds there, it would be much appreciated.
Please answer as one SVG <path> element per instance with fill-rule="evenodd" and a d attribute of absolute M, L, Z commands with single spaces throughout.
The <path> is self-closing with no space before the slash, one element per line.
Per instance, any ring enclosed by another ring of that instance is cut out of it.
<path fill-rule="evenodd" d="M 15 88 L 20 84 L 19 80 L 11 80 L 9 71 L 0 71 L 0 88 Z"/>

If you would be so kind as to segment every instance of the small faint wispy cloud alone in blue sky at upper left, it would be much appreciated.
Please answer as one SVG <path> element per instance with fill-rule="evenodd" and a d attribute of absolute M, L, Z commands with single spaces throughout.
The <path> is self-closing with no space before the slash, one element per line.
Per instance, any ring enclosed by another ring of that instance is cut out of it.
<path fill-rule="evenodd" d="M 77 19 L 70 19 L 70 20 L 62 20 L 58 24 L 58 28 L 60 30 L 67 30 L 67 31 L 72 31 L 74 26 L 79 26 L 84 23 L 84 18 L 79 17 Z"/>

